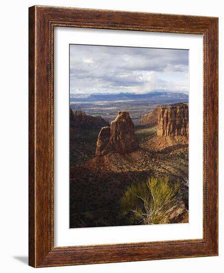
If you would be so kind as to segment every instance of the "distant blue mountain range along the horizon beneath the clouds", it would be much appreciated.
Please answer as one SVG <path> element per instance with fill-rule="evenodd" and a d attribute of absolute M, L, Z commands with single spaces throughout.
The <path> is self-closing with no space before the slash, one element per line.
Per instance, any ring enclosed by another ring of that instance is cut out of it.
<path fill-rule="evenodd" d="M 174 92 L 150 92 L 146 94 L 135 94 L 135 93 L 118 93 L 118 94 L 77 94 L 70 95 L 70 102 L 106 102 L 106 101 L 142 101 L 151 100 L 159 102 L 187 102 L 188 95 L 184 93 L 174 93 Z"/>

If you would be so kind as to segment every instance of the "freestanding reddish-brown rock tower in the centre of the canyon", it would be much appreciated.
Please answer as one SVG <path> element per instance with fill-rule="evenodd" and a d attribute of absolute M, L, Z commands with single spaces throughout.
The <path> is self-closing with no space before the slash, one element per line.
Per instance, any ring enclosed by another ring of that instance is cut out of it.
<path fill-rule="evenodd" d="M 97 140 L 96 155 L 105 155 L 109 152 L 125 154 L 136 150 L 138 147 L 139 143 L 134 134 L 134 123 L 129 113 L 118 112 L 116 119 L 111 123 L 111 127 L 101 129 Z"/>

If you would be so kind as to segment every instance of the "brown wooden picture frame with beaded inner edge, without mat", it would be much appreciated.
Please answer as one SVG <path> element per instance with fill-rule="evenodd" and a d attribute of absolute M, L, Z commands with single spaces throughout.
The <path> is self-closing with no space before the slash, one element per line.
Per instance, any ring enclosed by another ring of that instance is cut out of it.
<path fill-rule="evenodd" d="M 54 27 L 203 35 L 203 239 L 54 247 Z M 218 18 L 29 8 L 29 265 L 113 263 L 218 255 Z"/>

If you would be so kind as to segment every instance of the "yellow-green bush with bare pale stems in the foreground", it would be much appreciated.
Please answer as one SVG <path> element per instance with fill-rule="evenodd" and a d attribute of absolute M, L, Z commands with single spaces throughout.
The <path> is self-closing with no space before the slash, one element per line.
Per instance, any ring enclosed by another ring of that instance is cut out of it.
<path fill-rule="evenodd" d="M 168 177 L 150 177 L 146 183 L 131 185 L 120 199 L 121 213 L 131 223 L 159 224 L 179 188 L 180 183 L 171 186 Z"/>

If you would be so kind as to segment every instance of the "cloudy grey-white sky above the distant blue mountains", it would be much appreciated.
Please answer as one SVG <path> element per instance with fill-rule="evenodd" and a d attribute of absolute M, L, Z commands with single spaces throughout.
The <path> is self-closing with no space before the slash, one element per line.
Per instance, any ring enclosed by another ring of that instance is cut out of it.
<path fill-rule="evenodd" d="M 188 51 L 70 45 L 70 94 L 188 94 Z"/>

